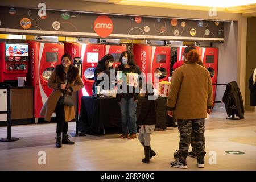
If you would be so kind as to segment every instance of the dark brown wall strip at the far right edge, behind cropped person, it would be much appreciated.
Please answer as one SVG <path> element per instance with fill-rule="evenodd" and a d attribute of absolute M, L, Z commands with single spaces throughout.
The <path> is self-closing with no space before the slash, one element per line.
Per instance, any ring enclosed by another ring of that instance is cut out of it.
<path fill-rule="evenodd" d="M 248 80 L 256 68 L 256 18 L 248 18 L 247 23 L 247 44 L 246 44 L 246 98 L 245 104 L 250 105 L 250 90 Z"/>

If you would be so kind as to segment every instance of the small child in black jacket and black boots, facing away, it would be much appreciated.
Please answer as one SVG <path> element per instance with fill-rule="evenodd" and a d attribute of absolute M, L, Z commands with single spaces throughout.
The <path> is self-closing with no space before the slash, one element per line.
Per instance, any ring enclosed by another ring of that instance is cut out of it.
<path fill-rule="evenodd" d="M 152 84 L 147 84 L 147 92 L 142 101 L 141 113 L 137 119 L 137 125 L 140 126 L 138 139 L 142 146 L 144 146 L 145 154 L 145 158 L 142 159 L 142 162 L 147 164 L 150 163 L 152 156 L 156 155 L 150 147 L 150 134 L 154 131 L 156 125 L 157 102 L 155 99 L 152 99 L 154 93 L 148 93 L 149 88 L 153 90 Z"/>

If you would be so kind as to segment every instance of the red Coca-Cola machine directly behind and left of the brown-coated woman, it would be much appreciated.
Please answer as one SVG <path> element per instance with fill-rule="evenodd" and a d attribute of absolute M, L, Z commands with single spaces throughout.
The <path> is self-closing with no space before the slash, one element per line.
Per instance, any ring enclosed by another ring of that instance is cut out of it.
<path fill-rule="evenodd" d="M 52 92 L 47 82 L 64 54 L 63 43 L 41 43 L 28 41 L 30 59 L 28 62 L 28 84 L 34 86 L 34 115 L 38 122 L 40 110 Z"/>

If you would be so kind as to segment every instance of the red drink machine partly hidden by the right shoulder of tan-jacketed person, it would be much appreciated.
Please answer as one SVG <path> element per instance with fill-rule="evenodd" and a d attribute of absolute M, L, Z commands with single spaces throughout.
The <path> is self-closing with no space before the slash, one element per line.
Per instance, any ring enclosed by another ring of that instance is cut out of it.
<path fill-rule="evenodd" d="M 216 96 L 216 85 L 218 77 L 218 48 L 215 47 L 201 47 L 201 60 L 204 66 L 210 72 L 212 77 L 212 87 L 213 87 L 213 101 L 215 101 Z"/>

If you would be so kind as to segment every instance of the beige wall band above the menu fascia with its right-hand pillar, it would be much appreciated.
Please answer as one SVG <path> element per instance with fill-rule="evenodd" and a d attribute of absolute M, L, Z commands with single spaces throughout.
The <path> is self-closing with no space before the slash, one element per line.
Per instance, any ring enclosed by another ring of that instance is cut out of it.
<path fill-rule="evenodd" d="M 38 3 L 42 0 L 34 1 L 3 1 L 2 6 L 38 8 Z M 141 15 L 141 16 L 160 16 L 168 18 L 189 18 L 189 19 L 210 19 L 210 20 L 233 20 L 237 21 L 237 52 L 234 52 L 237 57 L 237 82 L 240 86 L 243 100 L 245 100 L 246 89 L 246 33 L 247 33 L 247 18 L 240 13 L 226 13 L 218 12 L 217 16 L 209 16 L 208 11 L 198 10 L 180 10 L 169 9 L 162 7 L 143 7 L 143 6 L 129 6 L 116 5 L 107 3 L 86 2 L 81 0 L 44 0 L 47 9 L 55 10 L 69 10 L 69 11 L 87 11 L 95 13 L 110 13 L 110 14 L 127 14 L 127 15 Z M 234 30 L 236 31 L 236 30 Z M 232 38 L 232 37 L 230 37 Z M 228 40 L 224 40 L 228 41 Z M 225 53 L 225 52 L 224 52 Z M 228 55 L 225 55 L 228 56 Z"/>

